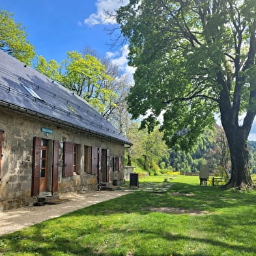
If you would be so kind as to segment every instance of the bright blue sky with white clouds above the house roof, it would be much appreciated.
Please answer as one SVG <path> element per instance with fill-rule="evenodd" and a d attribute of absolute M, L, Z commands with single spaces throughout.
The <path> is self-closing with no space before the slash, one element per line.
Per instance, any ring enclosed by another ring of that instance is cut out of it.
<path fill-rule="evenodd" d="M 127 46 L 111 48 L 111 37 L 106 31 L 115 20 L 106 20 L 104 10 L 114 12 L 120 6 L 120 0 L 1 0 L 0 4 L 25 27 L 36 54 L 48 61 L 63 61 L 67 51 L 89 47 L 129 73 L 133 69 L 127 66 Z"/>

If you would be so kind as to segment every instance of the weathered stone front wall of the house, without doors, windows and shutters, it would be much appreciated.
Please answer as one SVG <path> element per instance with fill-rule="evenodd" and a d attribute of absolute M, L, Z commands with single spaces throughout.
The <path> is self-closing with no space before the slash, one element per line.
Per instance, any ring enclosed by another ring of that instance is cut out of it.
<path fill-rule="evenodd" d="M 42 132 L 41 128 L 48 128 L 52 134 Z M 36 198 L 31 197 L 33 137 L 48 139 L 50 145 L 53 140 L 59 141 L 58 160 L 58 192 L 92 192 L 98 190 L 96 175 L 83 173 L 84 145 L 109 149 L 110 159 L 124 156 L 124 145 L 118 141 L 111 141 L 105 137 L 68 128 L 61 124 L 19 113 L 0 107 L 0 130 L 3 135 L 3 157 L 0 173 L 0 210 L 16 208 L 35 203 Z M 77 175 L 63 178 L 63 149 L 61 143 L 70 141 L 79 145 L 79 166 Z M 50 146 L 52 150 L 52 146 Z M 122 157 L 123 162 L 123 157 Z M 51 164 L 48 167 L 51 172 Z M 122 163 L 122 166 L 124 164 Z M 122 180 L 124 169 L 113 172 L 110 165 L 109 179 Z M 49 179 L 49 188 L 51 179 Z"/>

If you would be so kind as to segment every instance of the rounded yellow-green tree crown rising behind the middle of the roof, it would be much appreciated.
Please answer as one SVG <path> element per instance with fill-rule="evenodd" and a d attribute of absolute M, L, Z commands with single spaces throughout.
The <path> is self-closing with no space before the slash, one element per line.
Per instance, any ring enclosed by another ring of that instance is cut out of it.
<path fill-rule="evenodd" d="M 117 97 L 117 94 L 107 87 L 102 87 L 103 81 L 113 78 L 107 75 L 104 64 L 89 54 L 69 51 L 63 62 L 64 72 L 59 81 L 64 87 L 84 98 L 100 113 L 104 113 L 107 104 Z"/>

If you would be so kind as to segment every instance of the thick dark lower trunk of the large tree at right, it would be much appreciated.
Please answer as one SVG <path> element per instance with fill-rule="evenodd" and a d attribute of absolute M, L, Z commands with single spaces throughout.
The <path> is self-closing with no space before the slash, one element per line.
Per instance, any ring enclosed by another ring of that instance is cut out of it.
<path fill-rule="evenodd" d="M 231 178 L 224 188 L 240 190 L 253 188 L 249 171 L 249 151 L 246 130 L 241 127 L 225 129 L 231 156 Z"/>

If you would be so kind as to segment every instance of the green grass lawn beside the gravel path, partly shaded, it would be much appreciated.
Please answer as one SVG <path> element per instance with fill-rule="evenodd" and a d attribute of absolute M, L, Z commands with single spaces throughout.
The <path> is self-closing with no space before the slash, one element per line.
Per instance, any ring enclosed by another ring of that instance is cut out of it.
<path fill-rule="evenodd" d="M 171 178 L 165 192 L 137 191 L 0 236 L 0 255 L 256 255 L 256 192 Z"/>

